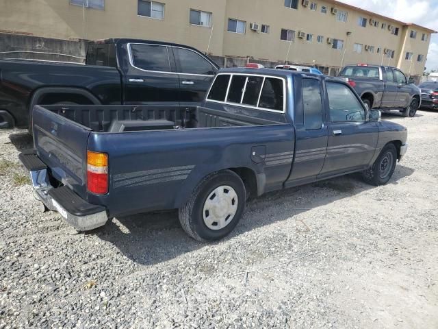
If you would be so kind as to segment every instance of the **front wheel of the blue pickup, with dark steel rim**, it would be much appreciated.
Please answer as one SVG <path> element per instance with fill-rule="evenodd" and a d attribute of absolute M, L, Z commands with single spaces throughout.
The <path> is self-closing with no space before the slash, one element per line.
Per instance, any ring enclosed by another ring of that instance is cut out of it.
<path fill-rule="evenodd" d="M 370 169 L 364 170 L 363 180 L 371 185 L 385 185 L 392 177 L 397 163 L 397 149 L 394 144 L 383 147 L 381 154 Z"/>

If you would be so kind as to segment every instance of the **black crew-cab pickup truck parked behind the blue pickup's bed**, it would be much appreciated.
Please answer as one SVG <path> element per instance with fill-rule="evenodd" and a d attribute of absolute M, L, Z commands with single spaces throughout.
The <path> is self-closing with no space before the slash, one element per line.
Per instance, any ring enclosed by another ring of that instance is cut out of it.
<path fill-rule="evenodd" d="M 85 65 L 1 60 L 0 128 L 31 128 L 37 104 L 196 107 L 218 69 L 192 47 L 126 38 L 90 42 Z"/>

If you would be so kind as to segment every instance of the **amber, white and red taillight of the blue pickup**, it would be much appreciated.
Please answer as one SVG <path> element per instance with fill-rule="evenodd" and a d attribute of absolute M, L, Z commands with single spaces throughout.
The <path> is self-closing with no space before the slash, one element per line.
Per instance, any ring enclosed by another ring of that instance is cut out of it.
<path fill-rule="evenodd" d="M 108 155 L 87 152 L 87 188 L 94 194 L 108 193 Z"/>

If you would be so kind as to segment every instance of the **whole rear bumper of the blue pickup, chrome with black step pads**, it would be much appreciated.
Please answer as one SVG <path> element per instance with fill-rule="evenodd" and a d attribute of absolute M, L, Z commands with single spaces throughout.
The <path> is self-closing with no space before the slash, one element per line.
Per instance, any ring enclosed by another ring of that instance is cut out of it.
<path fill-rule="evenodd" d="M 105 207 L 89 204 L 68 186 L 51 186 L 47 166 L 35 154 L 22 153 L 19 158 L 29 170 L 36 195 L 47 208 L 59 212 L 78 231 L 105 225 L 108 220 Z"/>

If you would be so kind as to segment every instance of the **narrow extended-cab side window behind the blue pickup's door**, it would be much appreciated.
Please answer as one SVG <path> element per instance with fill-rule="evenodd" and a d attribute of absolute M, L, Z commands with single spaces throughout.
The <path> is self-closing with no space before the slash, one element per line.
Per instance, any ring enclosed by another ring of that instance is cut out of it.
<path fill-rule="evenodd" d="M 320 129 L 322 127 L 322 99 L 318 80 L 302 80 L 302 106 L 306 130 Z"/>

